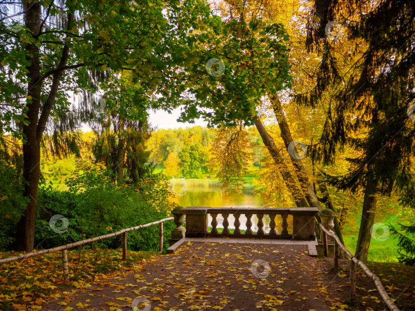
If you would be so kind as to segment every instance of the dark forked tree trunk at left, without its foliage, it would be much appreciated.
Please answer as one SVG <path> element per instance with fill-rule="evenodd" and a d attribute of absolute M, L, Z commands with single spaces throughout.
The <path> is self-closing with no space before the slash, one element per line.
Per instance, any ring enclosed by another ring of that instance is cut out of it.
<path fill-rule="evenodd" d="M 41 6 L 39 3 L 25 4 L 25 25 L 33 36 L 40 32 Z M 68 29 L 71 29 L 73 16 L 68 15 Z M 40 98 L 42 79 L 40 75 L 39 48 L 36 42 L 25 46 L 26 59 L 30 65 L 28 70 L 28 96 L 26 101 L 26 120 L 23 124 L 23 178 L 25 181 L 24 196 L 29 199 L 24 216 L 19 220 L 16 233 L 15 250 L 31 252 L 34 248 L 34 229 L 36 217 L 37 187 L 40 178 L 40 141 L 46 128 L 50 111 L 56 99 L 63 68 L 66 66 L 69 47 L 64 46 L 62 57 L 57 71 L 53 74 L 52 84 L 46 101 L 44 102 L 40 116 Z M 61 70 L 59 70 L 61 69 Z"/>

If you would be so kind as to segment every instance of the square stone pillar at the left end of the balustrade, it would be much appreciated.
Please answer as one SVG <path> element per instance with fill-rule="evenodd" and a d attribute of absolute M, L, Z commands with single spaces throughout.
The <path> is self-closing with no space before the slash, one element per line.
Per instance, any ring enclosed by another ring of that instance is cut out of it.
<path fill-rule="evenodd" d="M 189 238 L 204 238 L 208 233 L 207 209 L 198 206 L 189 206 L 181 210 L 186 216 L 185 236 Z"/>

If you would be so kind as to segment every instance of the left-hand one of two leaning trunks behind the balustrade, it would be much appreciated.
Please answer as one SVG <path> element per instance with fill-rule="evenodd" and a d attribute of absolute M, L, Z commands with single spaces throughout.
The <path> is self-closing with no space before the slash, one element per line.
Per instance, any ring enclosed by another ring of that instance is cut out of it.
<path fill-rule="evenodd" d="M 296 202 L 298 207 L 306 207 L 308 206 L 307 200 L 304 197 L 304 193 L 301 188 L 297 184 L 297 180 L 293 177 L 293 175 L 289 172 L 287 164 L 283 161 L 281 154 L 279 153 L 277 146 L 275 146 L 274 139 L 271 135 L 268 134 L 266 129 L 264 128 L 261 120 L 257 117 L 255 126 L 258 130 L 259 135 L 262 138 L 262 141 L 265 144 L 265 147 L 268 149 L 269 154 L 271 154 L 272 158 L 274 159 L 275 164 L 280 169 L 281 175 L 284 179 L 285 184 L 287 185 L 288 190 L 290 191 L 291 195 Z"/>

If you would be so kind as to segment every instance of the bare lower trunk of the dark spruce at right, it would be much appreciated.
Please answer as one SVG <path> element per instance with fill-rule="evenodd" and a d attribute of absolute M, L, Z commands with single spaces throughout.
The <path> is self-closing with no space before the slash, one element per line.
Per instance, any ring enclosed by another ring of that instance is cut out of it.
<path fill-rule="evenodd" d="M 368 168 L 369 169 L 369 168 Z M 375 221 L 376 211 L 376 177 L 373 172 L 369 172 L 365 187 L 365 196 L 363 199 L 362 218 L 360 222 L 359 238 L 356 245 L 355 257 L 359 260 L 367 260 L 367 254 L 370 246 L 370 228 Z"/>

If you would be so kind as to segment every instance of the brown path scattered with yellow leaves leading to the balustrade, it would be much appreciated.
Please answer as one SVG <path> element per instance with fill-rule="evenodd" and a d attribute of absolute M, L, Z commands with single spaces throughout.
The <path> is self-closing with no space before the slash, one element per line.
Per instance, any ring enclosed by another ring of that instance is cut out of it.
<path fill-rule="evenodd" d="M 257 260 L 269 263 L 256 266 Z M 44 310 L 338 310 L 348 309 L 348 274 L 304 245 L 188 242 L 124 277 L 67 292 Z M 342 261 L 345 266 L 348 261 Z M 253 264 L 254 263 L 254 264 Z M 256 277 L 254 274 L 257 274 Z M 265 277 L 266 276 L 266 277 Z M 369 278 L 357 277 L 358 309 L 383 310 Z M 146 307 L 143 299 L 151 303 Z"/>

